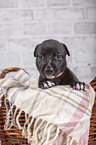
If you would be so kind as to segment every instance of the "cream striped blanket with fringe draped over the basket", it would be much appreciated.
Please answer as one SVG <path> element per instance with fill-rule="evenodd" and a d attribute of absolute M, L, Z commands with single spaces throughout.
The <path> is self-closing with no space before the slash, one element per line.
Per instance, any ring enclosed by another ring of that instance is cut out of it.
<path fill-rule="evenodd" d="M 16 125 L 31 145 L 88 144 L 95 98 L 89 84 L 85 92 L 73 90 L 70 86 L 42 90 L 37 88 L 34 78 L 20 70 L 15 76 L 0 80 L 0 98 L 3 95 L 7 112 L 5 129 Z M 19 117 L 23 111 L 26 121 L 22 126 Z"/>

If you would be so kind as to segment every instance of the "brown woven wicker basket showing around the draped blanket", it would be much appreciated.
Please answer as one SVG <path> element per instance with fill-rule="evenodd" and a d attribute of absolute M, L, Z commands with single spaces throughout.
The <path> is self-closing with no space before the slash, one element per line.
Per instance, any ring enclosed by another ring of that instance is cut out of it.
<path fill-rule="evenodd" d="M 8 68 L 2 71 L 0 79 L 4 78 L 8 72 L 18 71 L 21 68 Z M 96 77 L 90 82 L 93 89 L 96 91 Z M 16 126 L 12 126 L 10 130 L 4 130 L 4 124 L 6 119 L 6 107 L 4 104 L 4 96 L 1 100 L 0 107 L 0 140 L 1 145 L 28 145 L 28 140 L 25 139 L 21 134 L 21 130 L 18 130 Z M 14 108 L 15 109 L 15 108 Z M 19 110 L 18 110 L 19 111 Z M 22 112 L 20 115 L 20 123 L 25 122 L 25 113 Z M 32 125 L 32 128 L 34 124 Z M 88 145 L 96 145 L 96 99 L 92 109 L 92 116 L 90 120 L 90 132 L 89 132 L 89 143 Z"/>

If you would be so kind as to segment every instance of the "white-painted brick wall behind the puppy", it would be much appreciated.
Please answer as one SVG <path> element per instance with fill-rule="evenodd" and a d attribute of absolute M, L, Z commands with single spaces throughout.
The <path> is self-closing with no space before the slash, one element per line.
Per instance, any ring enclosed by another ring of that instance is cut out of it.
<path fill-rule="evenodd" d="M 81 81 L 96 76 L 96 0 L 0 0 L 0 71 L 22 67 L 38 78 L 34 48 L 50 38 L 67 45 Z"/>

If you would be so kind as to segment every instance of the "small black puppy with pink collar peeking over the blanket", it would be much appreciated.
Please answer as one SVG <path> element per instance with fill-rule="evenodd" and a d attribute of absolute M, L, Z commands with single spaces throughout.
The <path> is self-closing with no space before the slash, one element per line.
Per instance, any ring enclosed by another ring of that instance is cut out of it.
<path fill-rule="evenodd" d="M 46 40 L 36 46 L 34 56 L 40 72 L 38 84 L 40 88 L 71 85 L 75 89 L 84 89 L 85 84 L 80 83 L 67 67 L 66 54 L 70 56 L 66 45 L 56 40 Z"/>

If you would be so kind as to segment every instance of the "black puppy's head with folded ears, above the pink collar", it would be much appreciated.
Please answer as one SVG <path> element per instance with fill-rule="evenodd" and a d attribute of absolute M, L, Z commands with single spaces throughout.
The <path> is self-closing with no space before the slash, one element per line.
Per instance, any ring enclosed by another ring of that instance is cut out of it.
<path fill-rule="evenodd" d="M 34 57 L 41 77 L 52 79 L 63 72 L 66 67 L 66 54 L 70 56 L 66 45 L 56 40 L 46 40 L 37 45 Z"/>

